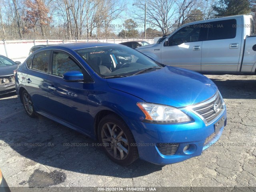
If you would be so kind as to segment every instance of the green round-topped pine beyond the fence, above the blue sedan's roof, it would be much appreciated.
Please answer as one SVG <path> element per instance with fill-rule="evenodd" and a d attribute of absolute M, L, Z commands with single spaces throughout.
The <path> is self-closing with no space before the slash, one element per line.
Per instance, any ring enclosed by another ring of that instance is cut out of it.
<path fill-rule="evenodd" d="M 124 30 L 119 32 L 118 36 L 122 38 L 138 36 L 138 30 L 135 29 L 137 27 L 137 23 L 134 20 L 132 19 L 125 20 L 123 27 L 124 27 Z"/>

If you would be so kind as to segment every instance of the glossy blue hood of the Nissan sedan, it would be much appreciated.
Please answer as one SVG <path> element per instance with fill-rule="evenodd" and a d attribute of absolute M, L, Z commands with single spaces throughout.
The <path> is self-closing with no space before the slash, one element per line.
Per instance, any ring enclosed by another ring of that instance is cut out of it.
<path fill-rule="evenodd" d="M 107 81 L 110 88 L 132 94 L 145 102 L 174 107 L 202 102 L 212 97 L 218 90 L 206 76 L 171 66 Z"/>

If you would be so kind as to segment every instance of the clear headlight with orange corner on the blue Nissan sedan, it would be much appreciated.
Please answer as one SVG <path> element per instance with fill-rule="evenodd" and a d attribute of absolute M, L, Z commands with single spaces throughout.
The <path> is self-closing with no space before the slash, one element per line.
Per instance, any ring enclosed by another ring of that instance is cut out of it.
<path fill-rule="evenodd" d="M 137 106 L 145 114 L 145 120 L 151 122 L 168 124 L 191 121 L 189 116 L 174 107 L 151 103 L 137 103 Z"/>

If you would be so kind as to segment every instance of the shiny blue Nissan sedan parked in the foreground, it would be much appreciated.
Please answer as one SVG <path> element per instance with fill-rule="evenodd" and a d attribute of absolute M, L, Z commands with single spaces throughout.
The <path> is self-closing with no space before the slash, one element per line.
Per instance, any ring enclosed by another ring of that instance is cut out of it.
<path fill-rule="evenodd" d="M 41 114 L 98 140 L 123 166 L 199 156 L 226 126 L 226 105 L 210 79 L 127 46 L 49 46 L 14 73 L 28 116 Z"/>

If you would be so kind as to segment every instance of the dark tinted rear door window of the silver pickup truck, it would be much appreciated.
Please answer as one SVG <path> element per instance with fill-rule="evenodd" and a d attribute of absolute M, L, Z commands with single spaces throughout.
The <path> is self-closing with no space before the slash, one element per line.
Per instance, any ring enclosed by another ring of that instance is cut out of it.
<path fill-rule="evenodd" d="M 222 20 L 207 24 L 207 40 L 232 39 L 236 37 L 236 20 Z"/>

